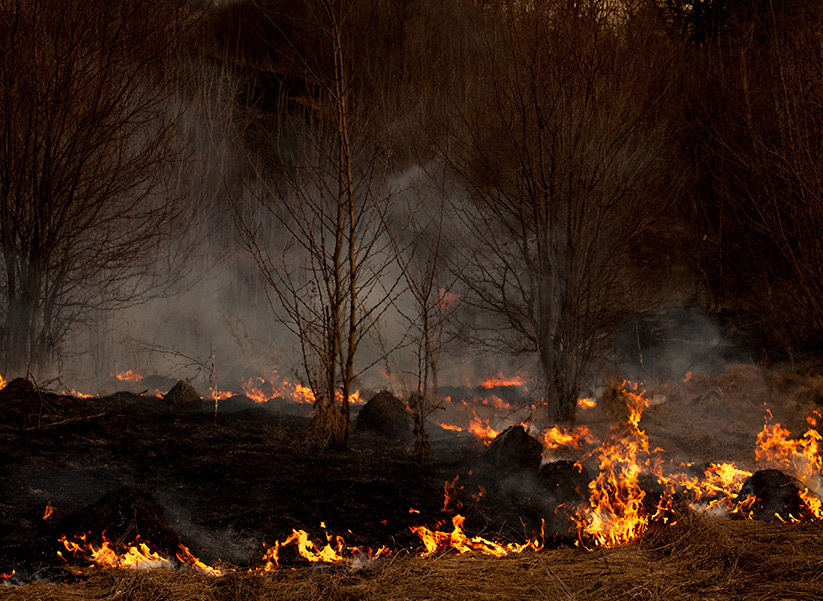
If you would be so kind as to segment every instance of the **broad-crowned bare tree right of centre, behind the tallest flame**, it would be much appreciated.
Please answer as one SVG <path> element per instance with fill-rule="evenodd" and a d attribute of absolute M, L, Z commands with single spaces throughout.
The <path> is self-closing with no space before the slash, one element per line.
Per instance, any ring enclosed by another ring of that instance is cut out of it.
<path fill-rule="evenodd" d="M 465 304 L 478 342 L 537 354 L 548 419 L 568 421 L 621 319 L 649 306 L 634 253 L 670 198 L 663 55 L 631 3 L 485 10 L 478 94 L 447 156 L 466 190 Z"/>

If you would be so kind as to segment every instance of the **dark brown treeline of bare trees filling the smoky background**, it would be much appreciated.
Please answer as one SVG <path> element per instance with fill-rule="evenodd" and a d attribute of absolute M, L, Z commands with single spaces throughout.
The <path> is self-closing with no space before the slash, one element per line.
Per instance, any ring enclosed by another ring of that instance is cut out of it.
<path fill-rule="evenodd" d="M 818 3 L 118 6 L 0 8 L 4 371 L 167 294 L 216 223 L 339 444 L 375 338 L 416 357 L 420 428 L 454 340 L 533 356 L 553 422 L 667 303 L 820 351 Z"/>

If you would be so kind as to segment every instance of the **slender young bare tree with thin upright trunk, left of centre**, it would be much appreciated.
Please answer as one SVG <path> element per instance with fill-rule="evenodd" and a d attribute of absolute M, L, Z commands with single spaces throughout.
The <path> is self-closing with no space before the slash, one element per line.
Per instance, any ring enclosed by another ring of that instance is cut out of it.
<path fill-rule="evenodd" d="M 367 108 L 352 102 L 355 4 L 301 5 L 303 33 L 308 28 L 319 40 L 311 52 L 289 38 L 285 24 L 293 16 L 268 13 L 307 94 L 286 95 L 288 116 L 280 115 L 276 139 L 261 151 L 266 166 L 250 189 L 263 218 L 238 213 L 273 307 L 299 339 L 315 397 L 313 436 L 333 446 L 347 443 L 358 351 L 395 289 L 384 278 L 391 262 L 382 235 L 388 147 L 367 128 Z"/>

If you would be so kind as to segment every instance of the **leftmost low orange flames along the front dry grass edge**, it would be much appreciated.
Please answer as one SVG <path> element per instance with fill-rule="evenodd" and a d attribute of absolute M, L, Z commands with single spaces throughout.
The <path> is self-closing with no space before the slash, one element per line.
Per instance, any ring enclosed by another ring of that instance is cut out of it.
<path fill-rule="evenodd" d="M 177 565 L 172 559 L 152 550 L 148 543 L 140 540 L 139 536 L 134 542 L 128 544 L 109 541 L 105 532 L 101 535 L 99 544 L 92 543 L 89 536 L 90 533 L 86 533 L 75 540 L 68 540 L 65 536 L 61 536 L 58 542 L 62 543 L 72 556 L 89 560 L 102 568 L 150 569 L 173 568 Z M 58 551 L 57 554 L 66 560 L 62 551 Z M 182 544 L 177 549 L 176 559 L 179 565 L 194 568 L 204 574 L 223 575 L 222 570 L 201 562 Z"/>

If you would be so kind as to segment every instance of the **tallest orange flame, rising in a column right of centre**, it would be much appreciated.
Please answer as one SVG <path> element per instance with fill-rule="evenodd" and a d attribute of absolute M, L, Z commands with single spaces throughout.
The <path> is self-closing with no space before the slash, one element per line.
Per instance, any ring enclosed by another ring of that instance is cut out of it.
<path fill-rule="evenodd" d="M 650 512 L 640 485 L 643 468 L 650 465 L 649 440 L 639 427 L 640 416 L 649 405 L 644 392 L 623 391 L 629 410 L 624 434 L 596 450 L 600 473 L 589 484 L 588 506 L 578 508 L 572 516 L 584 547 L 614 547 L 632 541 L 652 520 L 666 513 L 669 498 L 663 495 Z"/>

